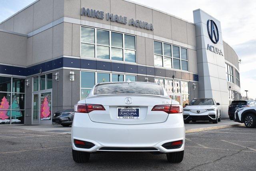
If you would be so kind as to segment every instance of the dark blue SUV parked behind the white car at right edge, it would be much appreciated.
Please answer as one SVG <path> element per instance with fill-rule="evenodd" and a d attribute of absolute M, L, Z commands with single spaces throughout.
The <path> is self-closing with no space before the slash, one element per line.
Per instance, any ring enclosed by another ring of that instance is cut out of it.
<path fill-rule="evenodd" d="M 256 103 L 254 100 L 234 100 L 228 106 L 228 116 L 230 120 L 234 119 L 235 111 L 242 107 L 255 106 Z"/>

